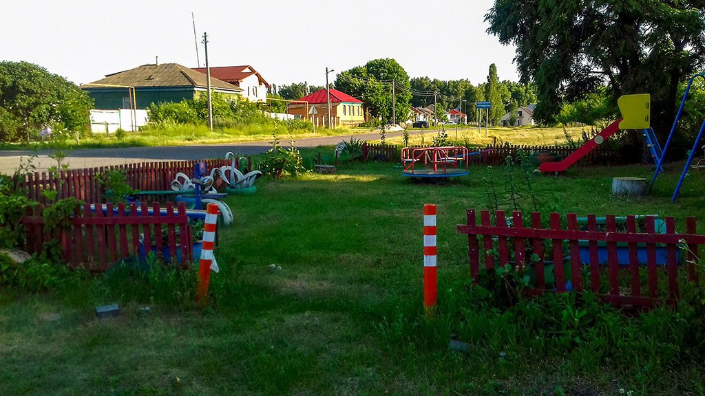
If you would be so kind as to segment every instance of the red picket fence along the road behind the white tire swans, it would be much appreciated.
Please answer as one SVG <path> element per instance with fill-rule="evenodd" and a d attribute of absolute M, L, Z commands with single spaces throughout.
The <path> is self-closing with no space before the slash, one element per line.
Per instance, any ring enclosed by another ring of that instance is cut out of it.
<path fill-rule="evenodd" d="M 229 159 L 203 160 L 206 168 L 231 165 Z M 128 163 L 117 166 L 101 166 L 98 168 L 70 169 L 52 172 L 35 172 L 25 177 L 22 187 L 27 190 L 27 197 L 42 204 L 51 204 L 59 199 L 74 197 L 92 203 L 106 202 L 105 192 L 102 189 L 100 178 L 107 171 L 123 171 L 128 185 L 140 191 L 168 191 L 171 190 L 171 181 L 176 173 L 193 175 L 195 163 L 200 161 L 162 161 Z M 242 171 L 236 161 L 236 166 Z M 247 171 L 252 170 L 252 158 L 247 157 Z M 58 177 L 57 177 L 58 176 Z M 56 191 L 56 198 L 50 199 L 43 191 Z"/>

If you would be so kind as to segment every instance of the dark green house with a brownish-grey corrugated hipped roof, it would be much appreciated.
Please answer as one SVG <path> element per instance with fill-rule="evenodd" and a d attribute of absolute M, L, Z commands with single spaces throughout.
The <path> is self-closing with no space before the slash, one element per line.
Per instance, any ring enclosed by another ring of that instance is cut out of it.
<path fill-rule="evenodd" d="M 105 78 L 81 85 L 101 110 L 131 109 L 134 87 L 136 109 L 146 109 L 152 103 L 178 102 L 195 99 L 207 92 L 206 76 L 178 63 L 142 65 L 130 70 L 106 75 Z M 211 89 L 226 97 L 238 97 L 243 89 L 211 78 Z"/>

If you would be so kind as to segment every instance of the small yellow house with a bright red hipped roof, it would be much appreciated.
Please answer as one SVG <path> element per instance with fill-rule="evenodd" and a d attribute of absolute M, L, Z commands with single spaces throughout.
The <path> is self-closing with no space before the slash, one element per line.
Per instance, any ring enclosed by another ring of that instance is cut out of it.
<path fill-rule="evenodd" d="M 312 107 L 316 109 L 315 114 L 309 115 Z M 311 118 L 315 125 L 328 125 L 326 89 L 320 89 L 288 104 L 286 112 L 302 118 Z M 331 89 L 331 125 L 356 126 L 361 123 L 364 123 L 362 101 L 338 89 Z"/>

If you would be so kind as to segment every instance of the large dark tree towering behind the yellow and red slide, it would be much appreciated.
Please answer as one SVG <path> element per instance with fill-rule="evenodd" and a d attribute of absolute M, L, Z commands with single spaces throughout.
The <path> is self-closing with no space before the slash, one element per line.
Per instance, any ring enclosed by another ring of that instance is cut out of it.
<path fill-rule="evenodd" d="M 565 101 L 606 83 L 614 101 L 651 94 L 661 133 L 673 122 L 678 84 L 705 58 L 703 0 L 496 0 L 488 32 L 517 47 L 522 81 L 535 83 L 534 116 L 552 122 Z"/>

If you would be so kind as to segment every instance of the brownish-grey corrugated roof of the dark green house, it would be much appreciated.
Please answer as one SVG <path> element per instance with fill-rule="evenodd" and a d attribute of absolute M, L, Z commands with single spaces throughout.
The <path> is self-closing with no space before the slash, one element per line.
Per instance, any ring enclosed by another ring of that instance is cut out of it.
<path fill-rule="evenodd" d="M 178 63 L 142 65 L 130 70 L 106 75 L 91 82 L 95 85 L 127 85 L 132 87 L 207 87 L 206 75 Z M 87 85 L 90 85 L 87 84 Z M 211 87 L 242 91 L 239 87 L 211 76 Z"/>

